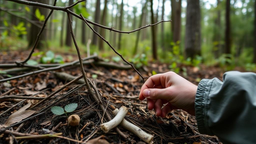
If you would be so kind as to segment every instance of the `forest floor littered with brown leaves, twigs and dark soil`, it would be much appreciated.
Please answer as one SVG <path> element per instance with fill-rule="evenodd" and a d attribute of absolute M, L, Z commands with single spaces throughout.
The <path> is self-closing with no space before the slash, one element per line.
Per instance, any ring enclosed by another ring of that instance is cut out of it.
<path fill-rule="evenodd" d="M 29 52 L 26 51 L 1 52 L 0 64 L 14 63 L 18 59 L 26 58 L 28 53 Z M 68 55 L 64 55 L 63 57 L 66 58 L 67 56 Z M 77 56 L 74 55 L 73 57 L 75 59 Z M 154 135 L 154 143 L 221 143 L 215 136 L 201 135 L 197 130 L 195 116 L 191 116 L 185 111 L 174 110 L 169 113 L 166 118 L 156 117 L 154 111 L 147 109 L 146 100 L 140 101 L 138 99 L 143 81 L 133 69 L 113 69 L 104 66 L 95 66 L 93 64 L 85 65 L 84 67 L 88 78 L 94 81 L 98 90 L 103 93 L 102 100 L 105 101 L 108 106 L 107 111 L 111 113 L 112 110 L 120 108 L 121 106 L 129 108 L 125 119 L 137 125 L 142 130 Z M 201 78 L 210 79 L 217 77 L 222 80 L 224 72 L 218 67 L 205 67 L 203 65 L 200 66 L 200 69 L 192 66 L 185 67 L 187 69 L 187 76 L 184 76 L 182 72 L 180 75 L 194 84 L 198 84 Z M 148 66 L 139 69 L 143 76 L 151 76 L 152 70 L 157 73 L 165 73 L 169 71 L 169 68 L 168 64 L 150 63 Z M 79 66 L 62 68 L 57 71 L 65 72 L 73 76 L 81 75 Z M 16 76 L 25 73 L 27 72 L 16 72 L 11 75 Z M 95 77 L 95 75 L 97 75 L 97 77 Z M 7 78 L 7 76 L 0 74 L 0 79 L 3 78 Z M 12 90 L 6 95 L 46 97 L 66 83 L 67 79 L 60 78 L 55 73 L 42 72 L 17 80 L 11 80 L 9 83 L 1 83 L 0 95 Z M 38 101 L 39 100 L 25 100 L 21 102 L 19 105 L 0 116 L 0 125 L 4 124 L 13 112 L 19 110 L 28 102 L 32 102 L 33 105 Z M 16 102 L 14 99 L 0 99 L 0 115 L 14 106 Z M 65 115 L 57 116 L 50 111 L 52 106 L 64 107 L 71 103 L 78 104 L 76 110 L 71 112 L 72 114 L 79 115 L 81 118 L 80 125 L 77 127 L 68 126 L 67 117 Z M 79 83 L 68 86 L 56 94 L 55 98 L 46 101 L 45 104 L 38 106 L 34 110 L 36 112 L 34 115 L 30 116 L 31 118 L 28 117 L 30 118 L 29 120 L 9 128 L 9 130 L 33 135 L 62 132 L 63 137 L 77 141 L 86 140 L 90 143 L 143 143 L 140 138 L 122 127 L 119 128 L 129 136 L 127 139 L 124 139 L 116 133 L 115 129 L 104 133 L 100 129 L 100 124 L 107 121 L 105 116 L 102 118 L 103 111 L 99 109 L 98 105 L 91 104 L 87 89 L 84 85 Z M 14 138 L 14 143 L 77 143 L 63 137 L 16 140 L 13 134 L 1 133 L 0 143 L 8 143 L 13 140 L 12 138 Z M 99 139 L 102 141 L 99 141 Z"/>

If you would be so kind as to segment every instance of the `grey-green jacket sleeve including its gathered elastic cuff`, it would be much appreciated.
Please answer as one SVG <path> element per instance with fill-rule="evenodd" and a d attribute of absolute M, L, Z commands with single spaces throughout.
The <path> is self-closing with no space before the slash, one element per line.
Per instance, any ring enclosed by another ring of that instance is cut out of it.
<path fill-rule="evenodd" d="M 229 71 L 202 79 L 195 99 L 198 130 L 223 143 L 256 142 L 256 74 Z"/>

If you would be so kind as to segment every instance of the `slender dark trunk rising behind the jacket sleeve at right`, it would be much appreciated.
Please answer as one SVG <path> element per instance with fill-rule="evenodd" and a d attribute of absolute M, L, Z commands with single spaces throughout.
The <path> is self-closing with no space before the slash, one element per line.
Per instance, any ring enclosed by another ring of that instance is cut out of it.
<path fill-rule="evenodd" d="M 226 2 L 226 32 L 225 32 L 225 44 L 226 44 L 226 54 L 231 53 L 231 43 L 230 43 L 230 0 Z"/>

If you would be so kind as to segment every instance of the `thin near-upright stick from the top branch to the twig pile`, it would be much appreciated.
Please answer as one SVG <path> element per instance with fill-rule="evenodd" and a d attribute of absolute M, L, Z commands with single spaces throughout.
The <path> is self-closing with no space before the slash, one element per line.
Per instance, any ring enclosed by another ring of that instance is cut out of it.
<path fill-rule="evenodd" d="M 70 33 L 71 33 L 71 36 L 72 36 L 72 39 L 73 39 L 73 42 L 74 42 L 74 45 L 77 49 L 77 55 L 78 55 L 78 58 L 79 58 L 79 62 L 80 62 L 80 66 L 81 66 L 81 72 L 83 74 L 83 78 L 84 78 L 84 81 L 86 83 L 86 87 L 89 89 L 89 91 L 91 90 L 91 87 L 89 85 L 89 82 L 87 80 L 87 76 L 86 76 L 86 73 L 84 71 L 84 68 L 83 68 L 83 60 L 82 60 L 82 57 L 81 57 L 81 54 L 80 54 L 80 51 L 79 51 L 79 47 L 77 45 L 77 42 L 76 42 L 76 38 L 75 38 L 75 35 L 74 35 L 74 32 L 73 32 L 73 28 L 72 28 L 72 20 L 71 20 L 71 17 L 70 17 L 70 14 L 68 14 L 68 20 L 69 20 L 69 27 L 70 27 Z"/>

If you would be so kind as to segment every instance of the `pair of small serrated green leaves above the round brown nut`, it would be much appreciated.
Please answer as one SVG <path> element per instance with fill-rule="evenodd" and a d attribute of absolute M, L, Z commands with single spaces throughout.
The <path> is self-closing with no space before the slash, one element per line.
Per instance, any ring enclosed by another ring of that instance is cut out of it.
<path fill-rule="evenodd" d="M 51 112 L 55 115 L 65 114 L 68 117 L 67 113 L 74 111 L 76 108 L 77 108 L 77 103 L 72 103 L 64 107 L 65 111 L 62 107 L 54 106 L 54 107 L 51 107 Z"/>

